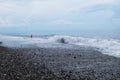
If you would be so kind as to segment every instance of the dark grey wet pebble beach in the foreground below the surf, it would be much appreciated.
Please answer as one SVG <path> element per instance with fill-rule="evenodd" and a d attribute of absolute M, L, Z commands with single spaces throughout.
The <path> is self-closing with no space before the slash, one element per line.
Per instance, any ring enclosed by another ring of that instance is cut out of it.
<path fill-rule="evenodd" d="M 120 58 L 91 47 L 0 47 L 0 80 L 120 80 Z"/>

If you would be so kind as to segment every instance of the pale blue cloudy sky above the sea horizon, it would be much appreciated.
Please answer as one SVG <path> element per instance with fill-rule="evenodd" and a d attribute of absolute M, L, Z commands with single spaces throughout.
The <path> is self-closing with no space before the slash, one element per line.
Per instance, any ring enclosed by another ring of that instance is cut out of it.
<path fill-rule="evenodd" d="M 0 0 L 0 33 L 119 33 L 119 27 L 120 0 Z"/>

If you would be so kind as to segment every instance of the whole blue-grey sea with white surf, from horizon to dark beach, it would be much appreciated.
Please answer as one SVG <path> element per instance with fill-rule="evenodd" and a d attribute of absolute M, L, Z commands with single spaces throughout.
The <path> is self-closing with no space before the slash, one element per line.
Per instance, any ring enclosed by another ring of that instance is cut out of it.
<path fill-rule="evenodd" d="M 32 35 L 32 38 L 31 38 Z M 64 40 L 64 41 L 61 41 Z M 36 31 L 0 32 L 0 41 L 7 47 L 67 47 L 84 46 L 101 53 L 120 57 L 120 28 L 56 28 Z"/>

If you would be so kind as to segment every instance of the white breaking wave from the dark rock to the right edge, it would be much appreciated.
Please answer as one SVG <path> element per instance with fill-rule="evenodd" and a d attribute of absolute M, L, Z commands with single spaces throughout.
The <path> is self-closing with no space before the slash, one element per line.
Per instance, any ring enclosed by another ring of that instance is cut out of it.
<path fill-rule="evenodd" d="M 93 38 L 82 38 L 82 37 L 72 37 L 72 36 L 54 36 L 51 37 L 50 40 L 54 39 L 57 41 L 60 38 L 64 38 L 68 44 L 97 47 L 104 54 L 120 57 L 120 40 L 93 39 Z"/>

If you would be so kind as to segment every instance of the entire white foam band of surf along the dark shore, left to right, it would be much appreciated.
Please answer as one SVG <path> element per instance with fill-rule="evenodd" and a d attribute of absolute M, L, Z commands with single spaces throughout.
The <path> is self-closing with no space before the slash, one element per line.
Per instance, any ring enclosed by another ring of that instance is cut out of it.
<path fill-rule="evenodd" d="M 0 41 L 3 42 L 4 46 L 8 47 L 21 47 L 21 46 L 53 46 L 60 45 L 59 39 L 64 38 L 67 44 L 71 45 L 84 45 L 97 47 L 99 50 L 107 55 L 120 57 L 120 40 L 115 39 L 93 39 L 93 38 L 82 38 L 72 36 L 49 36 L 46 38 L 28 38 L 28 37 L 15 37 L 15 36 L 3 36 L 0 35 Z"/>

